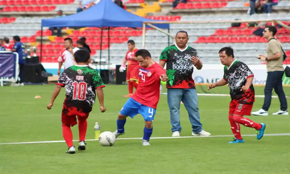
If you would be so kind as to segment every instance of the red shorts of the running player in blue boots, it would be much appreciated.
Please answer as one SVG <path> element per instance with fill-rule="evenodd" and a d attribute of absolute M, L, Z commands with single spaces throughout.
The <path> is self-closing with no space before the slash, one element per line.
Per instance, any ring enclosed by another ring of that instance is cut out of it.
<path fill-rule="evenodd" d="M 229 114 L 234 115 L 251 115 L 253 104 L 241 104 L 238 102 L 230 102 Z"/>

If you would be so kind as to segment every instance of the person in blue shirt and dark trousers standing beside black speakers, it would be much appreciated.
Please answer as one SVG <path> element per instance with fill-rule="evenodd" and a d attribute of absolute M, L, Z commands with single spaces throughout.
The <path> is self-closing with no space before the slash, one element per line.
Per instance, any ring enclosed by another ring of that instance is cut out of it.
<path fill-rule="evenodd" d="M 19 64 L 19 78 L 22 84 L 25 81 L 25 64 L 26 64 L 26 52 L 25 46 L 20 42 L 19 36 L 13 36 L 14 46 L 12 51 L 18 53 L 18 64 Z"/>

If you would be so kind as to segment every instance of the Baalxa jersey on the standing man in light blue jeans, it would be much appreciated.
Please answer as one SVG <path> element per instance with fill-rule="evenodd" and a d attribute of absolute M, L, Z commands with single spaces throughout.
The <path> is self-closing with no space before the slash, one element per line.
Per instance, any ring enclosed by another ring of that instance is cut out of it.
<path fill-rule="evenodd" d="M 161 52 L 160 61 L 166 61 L 166 74 L 169 79 L 166 88 L 195 89 L 192 78 L 193 66 L 195 65 L 190 61 L 191 52 L 199 59 L 197 51 L 190 46 L 180 50 L 176 45 L 171 45 Z"/>

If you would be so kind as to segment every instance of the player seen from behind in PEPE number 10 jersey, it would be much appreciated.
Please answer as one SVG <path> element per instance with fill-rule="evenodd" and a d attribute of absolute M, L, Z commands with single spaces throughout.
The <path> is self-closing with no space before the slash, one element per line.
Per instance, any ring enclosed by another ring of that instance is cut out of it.
<path fill-rule="evenodd" d="M 68 145 L 68 151 L 66 153 L 70 154 L 75 153 L 73 133 L 70 126 L 73 127 L 76 125 L 77 120 L 79 122 L 78 150 L 86 150 L 85 137 L 88 127 L 86 119 L 95 103 L 95 90 L 97 90 L 101 112 L 106 111 L 102 89 L 105 85 L 99 72 L 88 66 L 90 62 L 90 53 L 86 50 L 77 50 L 74 56 L 77 64 L 66 68 L 64 72 L 61 73 L 57 86 L 52 93 L 50 103 L 47 105 L 47 109 L 51 109 L 61 87 L 66 88 L 66 98 L 64 99 L 61 122 L 62 134 Z"/>

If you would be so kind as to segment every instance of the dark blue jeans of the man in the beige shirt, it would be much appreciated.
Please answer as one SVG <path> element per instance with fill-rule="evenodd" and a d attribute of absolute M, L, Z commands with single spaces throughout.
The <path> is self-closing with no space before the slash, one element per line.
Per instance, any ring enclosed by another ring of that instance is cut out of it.
<path fill-rule="evenodd" d="M 280 100 L 280 110 L 283 110 L 283 111 L 287 110 L 287 100 L 286 100 L 286 96 L 285 96 L 285 93 L 283 91 L 283 86 L 282 86 L 283 75 L 284 75 L 284 71 L 268 72 L 266 86 L 264 89 L 264 94 L 265 94 L 264 105 L 262 107 L 262 109 L 264 109 L 265 111 L 268 111 L 270 108 L 273 88 Z"/>

